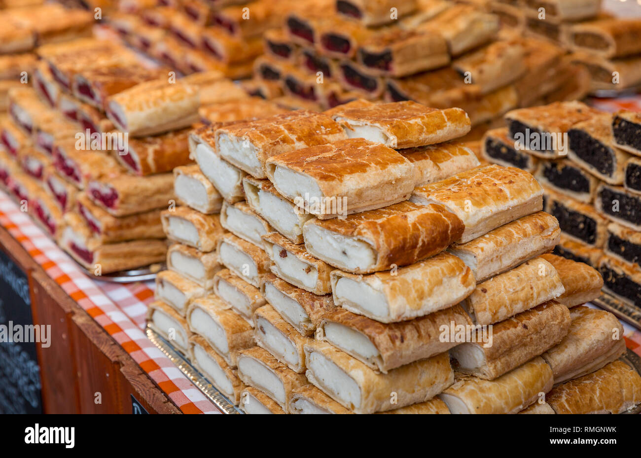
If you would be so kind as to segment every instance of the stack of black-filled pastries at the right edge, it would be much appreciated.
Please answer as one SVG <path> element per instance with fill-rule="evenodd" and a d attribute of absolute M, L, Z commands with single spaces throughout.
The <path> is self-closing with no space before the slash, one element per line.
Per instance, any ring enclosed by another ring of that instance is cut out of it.
<path fill-rule="evenodd" d="M 563 102 L 505 120 L 485 135 L 483 156 L 535 174 L 563 231 L 556 253 L 594 266 L 608 293 L 641 307 L 641 117 Z"/>

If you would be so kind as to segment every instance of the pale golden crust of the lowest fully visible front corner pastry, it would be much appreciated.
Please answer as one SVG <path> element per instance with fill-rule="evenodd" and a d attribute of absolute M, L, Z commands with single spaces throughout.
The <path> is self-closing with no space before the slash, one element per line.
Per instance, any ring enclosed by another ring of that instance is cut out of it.
<path fill-rule="evenodd" d="M 383 374 L 374 372 L 358 359 L 325 342 L 312 341 L 305 345 L 307 361 L 310 361 L 310 357 L 315 352 L 320 353 L 322 357 L 338 366 L 339 370 L 354 380 L 360 388 L 360 405 L 351 405 L 338 398 L 331 392 L 328 384 L 311 369 L 306 372 L 308 380 L 355 413 L 370 414 L 424 402 L 433 398 L 454 381 L 454 373 L 449 365 L 447 353 L 415 361 Z M 390 397 L 392 392 L 397 393 L 396 404 L 392 404 Z"/>

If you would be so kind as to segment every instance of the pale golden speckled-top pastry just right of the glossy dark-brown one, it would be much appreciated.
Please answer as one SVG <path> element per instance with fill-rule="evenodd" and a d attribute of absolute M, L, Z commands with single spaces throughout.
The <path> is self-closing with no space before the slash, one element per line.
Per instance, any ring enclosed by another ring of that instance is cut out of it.
<path fill-rule="evenodd" d="M 518 168 L 488 165 L 416 188 L 410 198 L 420 205 L 441 204 L 458 216 L 465 243 L 492 229 L 543 208 L 543 188 Z"/>

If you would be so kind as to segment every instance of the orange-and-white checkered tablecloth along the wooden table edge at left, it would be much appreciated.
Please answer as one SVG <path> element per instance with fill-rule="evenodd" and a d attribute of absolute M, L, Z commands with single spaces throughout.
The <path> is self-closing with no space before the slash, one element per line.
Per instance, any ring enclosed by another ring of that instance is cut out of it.
<path fill-rule="evenodd" d="M 31 218 L 0 191 L 0 224 L 78 302 L 183 413 L 222 413 L 144 333 L 153 282 L 108 284 L 89 278 Z"/>

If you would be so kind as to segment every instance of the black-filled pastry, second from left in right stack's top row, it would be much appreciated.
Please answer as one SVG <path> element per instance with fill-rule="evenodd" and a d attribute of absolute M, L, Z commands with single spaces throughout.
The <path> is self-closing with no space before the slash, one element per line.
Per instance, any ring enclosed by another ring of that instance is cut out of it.
<path fill-rule="evenodd" d="M 567 132 L 568 156 L 606 183 L 622 184 L 630 154 L 613 145 L 612 120 L 611 113 L 599 113 L 574 124 Z"/>

